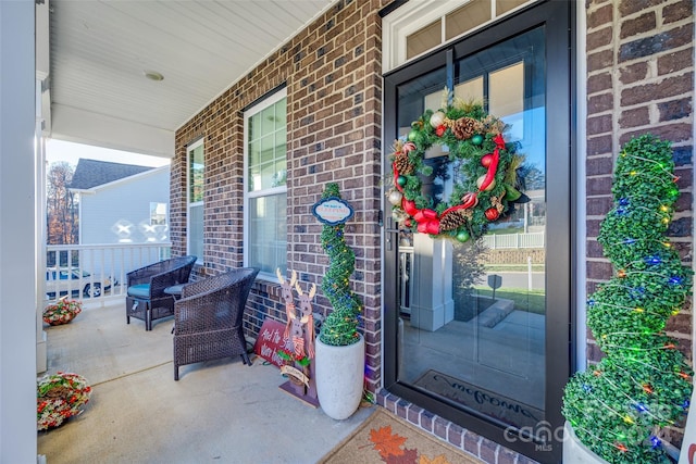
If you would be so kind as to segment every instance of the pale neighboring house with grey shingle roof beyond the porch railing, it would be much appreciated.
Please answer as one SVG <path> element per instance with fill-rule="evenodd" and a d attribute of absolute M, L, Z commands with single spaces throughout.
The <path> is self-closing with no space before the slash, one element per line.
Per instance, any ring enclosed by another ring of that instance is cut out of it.
<path fill-rule="evenodd" d="M 169 166 L 80 159 L 70 189 L 79 195 L 79 244 L 169 241 Z"/>

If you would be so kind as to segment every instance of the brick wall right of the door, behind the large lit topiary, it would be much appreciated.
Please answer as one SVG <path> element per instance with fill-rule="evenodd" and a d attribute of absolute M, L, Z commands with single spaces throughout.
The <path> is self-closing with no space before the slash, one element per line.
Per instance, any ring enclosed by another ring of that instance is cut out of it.
<path fill-rule="evenodd" d="M 692 0 L 588 0 L 587 7 L 587 292 L 612 275 L 596 241 L 611 208 L 613 160 L 632 136 L 672 141 L 681 197 L 670 240 L 692 264 L 694 17 Z M 692 358 L 692 305 L 668 333 Z M 587 356 L 601 352 L 588 333 Z"/>

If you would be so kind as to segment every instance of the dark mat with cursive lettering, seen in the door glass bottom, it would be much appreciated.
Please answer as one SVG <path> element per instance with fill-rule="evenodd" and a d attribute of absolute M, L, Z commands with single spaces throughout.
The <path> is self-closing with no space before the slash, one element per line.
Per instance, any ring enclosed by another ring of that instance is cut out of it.
<path fill-rule="evenodd" d="M 518 428 L 535 427 L 544 421 L 542 410 L 437 371 L 427 371 L 414 385 Z"/>

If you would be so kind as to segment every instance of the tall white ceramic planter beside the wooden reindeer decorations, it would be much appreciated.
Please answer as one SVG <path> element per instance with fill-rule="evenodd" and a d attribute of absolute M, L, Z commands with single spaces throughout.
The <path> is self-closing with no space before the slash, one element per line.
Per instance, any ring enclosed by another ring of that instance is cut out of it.
<path fill-rule="evenodd" d="M 316 397 L 324 413 L 337 421 L 356 412 L 362 399 L 365 341 L 333 347 L 316 338 L 314 355 Z"/>

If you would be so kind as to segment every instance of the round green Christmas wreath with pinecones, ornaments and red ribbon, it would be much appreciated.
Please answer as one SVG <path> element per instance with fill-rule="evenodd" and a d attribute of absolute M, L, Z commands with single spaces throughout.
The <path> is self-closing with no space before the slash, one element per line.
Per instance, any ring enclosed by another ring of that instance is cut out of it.
<path fill-rule="evenodd" d="M 433 237 L 461 242 L 480 238 L 488 223 L 521 197 L 515 185 L 523 159 L 514 153 L 514 143 L 505 141 L 505 123 L 480 103 L 456 100 L 445 109 L 423 113 L 411 124 L 408 137 L 394 146 L 394 188 L 387 193 L 394 217 Z M 434 175 L 424 161 L 425 152 L 436 145 L 449 152 L 453 173 L 449 201 L 437 202 L 422 189 L 423 176 Z"/>

